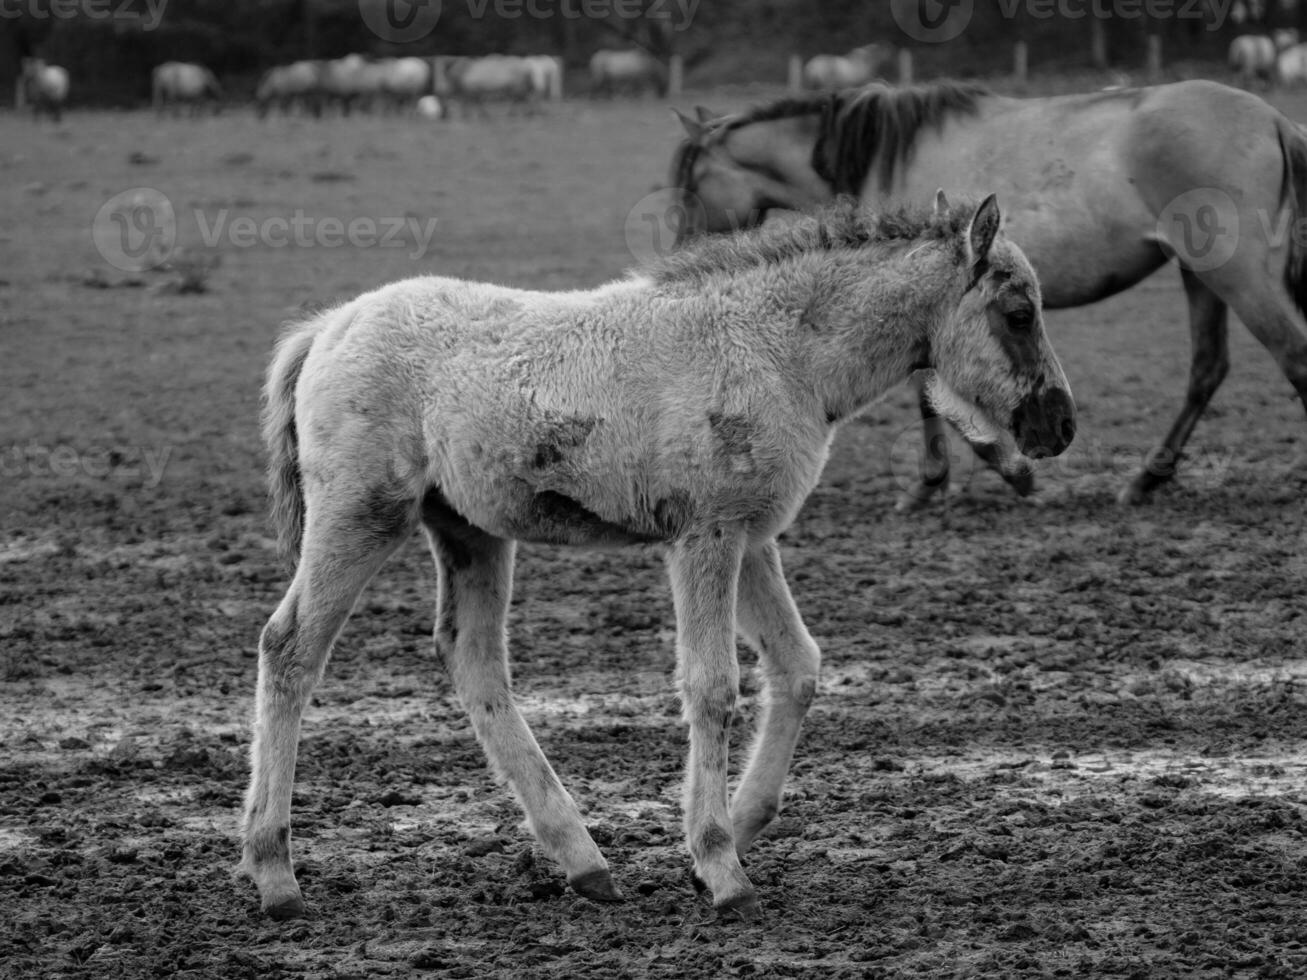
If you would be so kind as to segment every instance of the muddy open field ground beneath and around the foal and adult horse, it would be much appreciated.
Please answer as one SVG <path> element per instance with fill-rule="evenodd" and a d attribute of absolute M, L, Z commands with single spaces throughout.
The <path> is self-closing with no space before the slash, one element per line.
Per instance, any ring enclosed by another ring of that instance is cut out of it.
<path fill-rule="evenodd" d="M 1307 98 L 1285 107 L 1307 119 Z M 0 118 L 0 976 L 1307 975 L 1307 419 L 1236 328 L 1182 480 L 1114 503 L 1183 397 L 1174 270 L 1050 316 L 1081 416 L 1042 506 L 963 464 L 945 506 L 894 514 L 907 391 L 840 434 L 783 540 L 825 664 L 749 857 L 759 923 L 715 921 L 687 873 L 659 555 L 523 547 L 518 566 L 515 686 L 627 895 L 600 907 L 484 763 L 434 661 L 418 542 L 307 716 L 310 917 L 259 916 L 233 868 L 256 642 L 286 583 L 256 434 L 280 321 L 418 272 L 612 277 L 674 140 L 655 103 L 448 125 Z M 133 187 L 167 195 L 187 261 L 221 259 L 208 291 L 97 252 L 98 209 Z M 297 212 L 438 221 L 420 257 L 413 235 L 203 240 L 223 214 Z"/>

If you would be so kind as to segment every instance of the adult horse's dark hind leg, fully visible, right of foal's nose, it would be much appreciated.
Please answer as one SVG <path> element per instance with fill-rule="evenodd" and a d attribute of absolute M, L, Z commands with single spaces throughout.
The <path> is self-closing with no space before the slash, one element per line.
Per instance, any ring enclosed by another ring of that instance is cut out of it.
<path fill-rule="evenodd" d="M 1184 281 L 1184 294 L 1189 301 L 1189 337 L 1193 348 L 1189 389 L 1184 396 L 1184 408 L 1180 409 L 1166 439 L 1149 453 L 1144 468 L 1121 490 L 1119 495 L 1121 503 L 1142 503 L 1154 489 L 1175 476 L 1184 443 L 1188 442 L 1208 402 L 1230 370 L 1229 308 L 1197 273 L 1180 269 L 1180 276 Z"/>

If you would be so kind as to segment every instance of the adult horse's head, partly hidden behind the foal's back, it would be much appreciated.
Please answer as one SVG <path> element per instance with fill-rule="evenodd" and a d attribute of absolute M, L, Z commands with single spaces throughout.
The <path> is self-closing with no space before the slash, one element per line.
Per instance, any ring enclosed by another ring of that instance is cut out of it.
<path fill-rule="evenodd" d="M 812 137 L 787 128 L 810 116 L 749 124 L 736 116 L 677 114 L 686 139 L 672 157 L 670 186 L 681 195 L 676 243 L 702 234 L 761 225 L 772 208 L 801 210 L 830 200 L 830 187 L 809 166 Z"/>

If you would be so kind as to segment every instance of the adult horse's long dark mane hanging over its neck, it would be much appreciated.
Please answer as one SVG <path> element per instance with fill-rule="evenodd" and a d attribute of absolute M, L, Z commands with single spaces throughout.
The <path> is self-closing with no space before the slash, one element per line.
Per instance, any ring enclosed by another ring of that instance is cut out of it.
<path fill-rule="evenodd" d="M 835 193 L 856 195 L 874 166 L 886 193 L 908 162 L 916 137 L 950 116 L 971 115 L 991 94 L 982 85 L 937 82 L 911 89 L 872 84 L 826 97 L 813 146 L 813 170 Z"/>

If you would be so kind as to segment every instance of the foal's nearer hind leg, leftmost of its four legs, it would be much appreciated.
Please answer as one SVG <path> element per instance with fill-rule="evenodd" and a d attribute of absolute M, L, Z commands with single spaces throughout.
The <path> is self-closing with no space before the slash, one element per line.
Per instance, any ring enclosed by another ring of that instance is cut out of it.
<path fill-rule="evenodd" d="M 259 638 L 240 870 L 273 919 L 305 912 L 290 864 L 290 789 L 305 704 L 363 587 L 412 531 L 397 510 L 379 514 L 375 499 L 308 500 L 299 567 Z"/>

